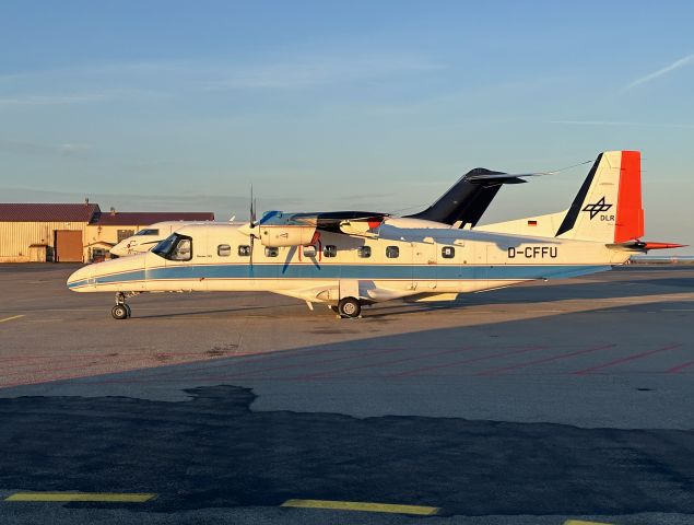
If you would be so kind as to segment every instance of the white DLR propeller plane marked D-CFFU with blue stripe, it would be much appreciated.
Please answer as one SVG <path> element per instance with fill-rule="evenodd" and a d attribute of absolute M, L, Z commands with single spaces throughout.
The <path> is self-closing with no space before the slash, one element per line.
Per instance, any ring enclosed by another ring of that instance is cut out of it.
<path fill-rule="evenodd" d="M 609 151 L 558 213 L 470 230 L 360 211 L 270 211 L 256 221 L 251 206 L 248 223 L 184 226 L 151 252 L 77 270 L 67 285 L 116 292 L 117 319 L 131 315 L 130 296 L 164 291 L 268 291 L 351 318 L 384 301 L 452 301 L 604 271 L 632 254 L 682 246 L 645 242 L 643 234 L 640 153 Z"/>

